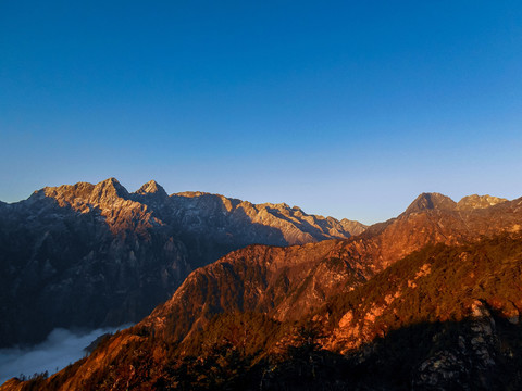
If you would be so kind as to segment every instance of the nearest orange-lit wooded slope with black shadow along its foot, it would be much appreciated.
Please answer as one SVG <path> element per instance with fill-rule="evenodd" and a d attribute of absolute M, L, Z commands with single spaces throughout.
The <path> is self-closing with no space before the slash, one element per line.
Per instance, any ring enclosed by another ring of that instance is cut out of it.
<path fill-rule="evenodd" d="M 175 323 L 161 317 L 174 310 L 167 303 L 49 380 L 1 390 L 514 390 L 521 272 L 520 234 L 430 244 L 298 324 L 232 305 L 182 343 Z M 172 301 L 188 310 L 184 289 Z"/>

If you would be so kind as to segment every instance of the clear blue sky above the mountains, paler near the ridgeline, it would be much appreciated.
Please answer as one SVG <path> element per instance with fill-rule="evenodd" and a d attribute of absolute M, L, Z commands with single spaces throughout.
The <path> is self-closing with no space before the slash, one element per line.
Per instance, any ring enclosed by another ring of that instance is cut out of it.
<path fill-rule="evenodd" d="M 114 176 L 374 223 L 522 195 L 520 1 L 2 1 L 0 200 Z"/>

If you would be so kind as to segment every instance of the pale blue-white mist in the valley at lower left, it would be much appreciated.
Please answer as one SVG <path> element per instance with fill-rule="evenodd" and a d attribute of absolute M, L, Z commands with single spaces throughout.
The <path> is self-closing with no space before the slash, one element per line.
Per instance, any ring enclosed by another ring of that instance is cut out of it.
<path fill-rule="evenodd" d="M 49 375 L 54 374 L 88 354 L 85 348 L 98 337 L 129 326 L 132 325 L 100 328 L 88 332 L 57 328 L 44 342 L 35 346 L 0 349 L 0 384 L 20 375 L 30 377 L 46 370 Z"/>

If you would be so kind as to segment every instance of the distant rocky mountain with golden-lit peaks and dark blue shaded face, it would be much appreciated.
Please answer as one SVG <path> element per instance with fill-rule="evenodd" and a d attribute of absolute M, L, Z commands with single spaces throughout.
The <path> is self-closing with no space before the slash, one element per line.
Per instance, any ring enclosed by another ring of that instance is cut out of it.
<path fill-rule="evenodd" d="M 0 204 L 0 346 L 55 327 L 138 321 L 195 268 L 251 243 L 348 238 L 357 222 L 208 193 L 169 197 L 154 181 L 45 188 Z"/>

